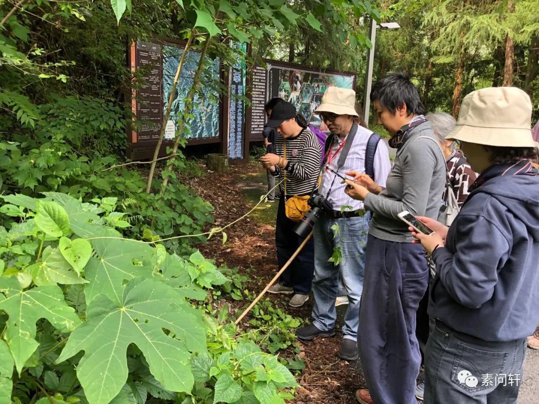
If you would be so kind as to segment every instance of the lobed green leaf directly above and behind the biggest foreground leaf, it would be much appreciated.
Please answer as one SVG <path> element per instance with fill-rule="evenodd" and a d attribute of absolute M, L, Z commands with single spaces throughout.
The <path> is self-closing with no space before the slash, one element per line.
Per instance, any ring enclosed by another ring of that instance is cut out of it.
<path fill-rule="evenodd" d="M 115 302 L 122 301 L 123 285 L 133 278 L 151 276 L 153 271 L 153 248 L 132 240 L 92 240 L 95 257 L 85 268 L 89 284 L 84 290 L 86 303 L 99 294 Z"/>

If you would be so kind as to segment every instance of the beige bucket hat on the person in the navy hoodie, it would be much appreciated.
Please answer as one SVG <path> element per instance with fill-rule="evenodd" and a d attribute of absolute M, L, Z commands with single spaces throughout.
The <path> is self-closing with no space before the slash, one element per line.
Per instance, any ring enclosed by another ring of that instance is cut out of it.
<path fill-rule="evenodd" d="M 464 97 L 448 140 L 498 147 L 535 147 L 531 101 L 516 87 L 488 87 Z"/>

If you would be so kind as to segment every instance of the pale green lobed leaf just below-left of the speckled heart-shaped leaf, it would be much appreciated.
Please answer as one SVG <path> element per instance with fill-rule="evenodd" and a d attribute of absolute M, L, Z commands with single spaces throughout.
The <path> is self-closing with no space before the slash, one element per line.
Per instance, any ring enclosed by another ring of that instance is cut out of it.
<path fill-rule="evenodd" d="M 30 267 L 30 274 L 38 286 L 56 285 L 57 283 L 72 285 L 88 282 L 85 278 L 74 273 L 71 265 L 65 260 L 58 248 L 51 246 L 43 251 L 42 261 Z"/>

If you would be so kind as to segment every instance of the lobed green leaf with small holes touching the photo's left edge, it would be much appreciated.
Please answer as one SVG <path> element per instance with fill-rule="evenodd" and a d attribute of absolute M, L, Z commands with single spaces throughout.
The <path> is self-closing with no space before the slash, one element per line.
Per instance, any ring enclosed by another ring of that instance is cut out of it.
<path fill-rule="evenodd" d="M 9 316 L 4 339 L 19 373 L 39 345 L 34 337 L 40 318 L 46 318 L 61 332 L 69 332 L 80 323 L 75 311 L 65 303 L 58 286 L 24 291 L 17 278 L 12 276 L 0 277 L 0 310 Z"/>

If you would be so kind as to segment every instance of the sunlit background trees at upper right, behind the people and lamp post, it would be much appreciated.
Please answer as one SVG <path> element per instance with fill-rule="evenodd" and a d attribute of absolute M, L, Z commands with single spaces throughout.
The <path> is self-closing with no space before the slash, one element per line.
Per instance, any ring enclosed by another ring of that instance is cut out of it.
<path fill-rule="evenodd" d="M 316 1 L 312 5 L 316 6 Z M 381 0 L 385 22 L 398 30 L 378 30 L 374 80 L 407 72 L 420 89 L 425 107 L 454 116 L 462 97 L 474 89 L 516 86 L 534 102 L 539 119 L 539 2 L 537 0 Z M 368 24 L 350 16 L 353 29 Z M 342 41 L 346 27 L 322 20 L 320 32 L 291 27 L 277 46 L 260 46 L 263 57 L 357 72 L 362 94 L 367 51 Z M 326 35 L 331 32 L 333 35 Z"/>

